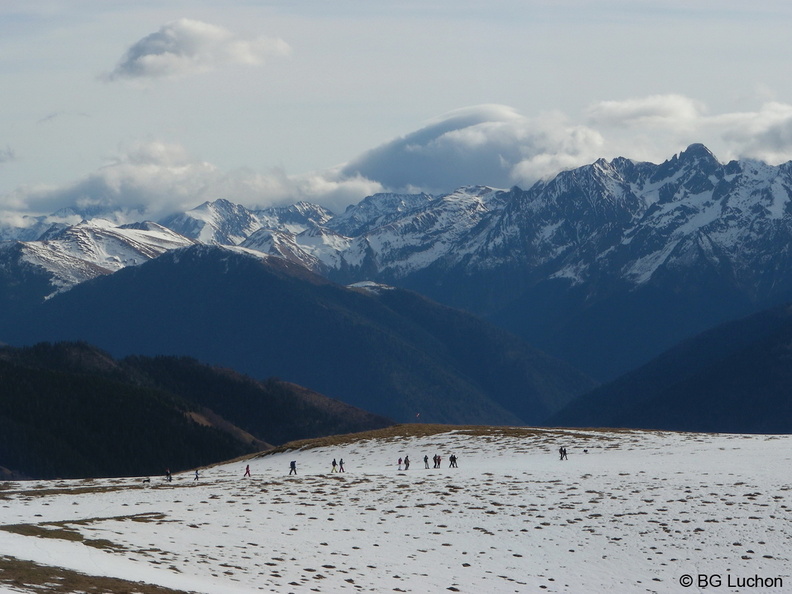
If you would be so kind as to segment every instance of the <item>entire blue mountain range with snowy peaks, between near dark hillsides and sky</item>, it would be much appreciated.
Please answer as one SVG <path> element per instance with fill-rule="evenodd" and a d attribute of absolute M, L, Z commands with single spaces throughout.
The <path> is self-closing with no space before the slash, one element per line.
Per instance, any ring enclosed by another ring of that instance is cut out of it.
<path fill-rule="evenodd" d="M 0 340 L 188 354 L 397 420 L 541 423 L 586 376 L 609 385 L 792 301 L 791 197 L 792 163 L 695 144 L 341 214 L 218 199 L 158 223 L 39 217 L 0 230 Z"/>

